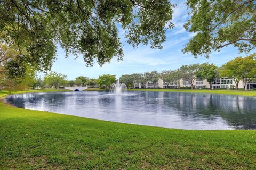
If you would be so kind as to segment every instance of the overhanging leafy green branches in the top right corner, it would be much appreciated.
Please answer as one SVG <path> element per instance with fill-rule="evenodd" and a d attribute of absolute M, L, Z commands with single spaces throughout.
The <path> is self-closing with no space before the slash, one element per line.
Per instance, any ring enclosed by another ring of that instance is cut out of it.
<path fill-rule="evenodd" d="M 229 45 L 238 47 L 240 52 L 256 47 L 255 1 L 187 0 L 186 4 L 191 18 L 185 29 L 194 36 L 183 52 L 209 57 L 212 50 Z"/>

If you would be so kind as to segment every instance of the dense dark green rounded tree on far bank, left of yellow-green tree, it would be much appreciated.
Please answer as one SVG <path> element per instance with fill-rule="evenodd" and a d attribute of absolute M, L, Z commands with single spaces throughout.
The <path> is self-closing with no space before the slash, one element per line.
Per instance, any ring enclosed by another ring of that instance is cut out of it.
<path fill-rule="evenodd" d="M 200 64 L 198 70 L 195 73 L 198 79 L 206 79 L 206 81 L 209 82 L 210 89 L 212 89 L 212 84 L 214 83 L 215 78 L 217 78 L 219 75 L 218 67 L 215 64 L 209 63 Z"/>

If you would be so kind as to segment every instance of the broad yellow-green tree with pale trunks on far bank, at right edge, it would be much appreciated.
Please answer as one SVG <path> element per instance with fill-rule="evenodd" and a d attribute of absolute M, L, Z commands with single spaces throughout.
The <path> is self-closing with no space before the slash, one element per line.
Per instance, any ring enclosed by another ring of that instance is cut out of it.
<path fill-rule="evenodd" d="M 221 77 L 230 77 L 236 84 L 238 89 L 239 81 L 243 80 L 245 90 L 247 91 L 247 84 L 256 75 L 256 53 L 253 53 L 247 57 L 236 57 L 222 66 L 220 71 Z"/>

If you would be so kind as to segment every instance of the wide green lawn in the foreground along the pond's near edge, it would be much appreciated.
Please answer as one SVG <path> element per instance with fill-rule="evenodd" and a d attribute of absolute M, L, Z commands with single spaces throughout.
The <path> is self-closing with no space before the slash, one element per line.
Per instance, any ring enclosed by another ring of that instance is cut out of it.
<path fill-rule="evenodd" d="M 0 169 L 256 169 L 255 130 L 156 128 L 3 102 L 0 129 Z"/>

